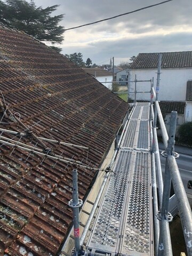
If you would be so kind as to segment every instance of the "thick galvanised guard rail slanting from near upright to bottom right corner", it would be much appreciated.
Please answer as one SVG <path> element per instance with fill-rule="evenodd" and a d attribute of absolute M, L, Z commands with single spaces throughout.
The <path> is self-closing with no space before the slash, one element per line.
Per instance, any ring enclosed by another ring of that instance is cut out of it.
<path fill-rule="evenodd" d="M 188 255 L 192 255 L 192 213 L 187 199 L 186 191 L 183 186 L 181 175 L 177 162 L 173 155 L 167 157 L 167 162 L 171 171 L 171 178 L 175 196 L 177 197 L 177 206 L 180 213 L 183 236 L 186 242 Z"/>

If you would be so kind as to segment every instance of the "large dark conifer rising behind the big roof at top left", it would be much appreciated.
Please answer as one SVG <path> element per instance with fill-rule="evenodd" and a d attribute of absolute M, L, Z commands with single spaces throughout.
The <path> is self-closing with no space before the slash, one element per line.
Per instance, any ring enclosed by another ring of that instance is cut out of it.
<path fill-rule="evenodd" d="M 58 6 L 43 9 L 42 6 L 37 7 L 33 0 L 29 3 L 25 0 L 6 0 L 5 3 L 0 1 L 0 25 L 22 30 L 40 41 L 60 44 L 65 29 L 58 23 L 64 15 L 51 16 Z"/>

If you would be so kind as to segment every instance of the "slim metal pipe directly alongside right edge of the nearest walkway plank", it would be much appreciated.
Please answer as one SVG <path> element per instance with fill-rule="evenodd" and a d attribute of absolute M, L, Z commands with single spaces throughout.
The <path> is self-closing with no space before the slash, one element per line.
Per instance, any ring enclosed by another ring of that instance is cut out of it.
<path fill-rule="evenodd" d="M 155 255 L 158 253 L 158 241 L 159 241 L 159 220 L 156 217 L 158 212 L 158 198 L 157 198 L 157 182 L 156 182 L 156 173 L 155 173 L 155 154 L 151 154 L 151 171 L 152 171 L 152 182 L 153 182 L 153 217 L 154 217 L 154 237 L 155 237 Z"/>

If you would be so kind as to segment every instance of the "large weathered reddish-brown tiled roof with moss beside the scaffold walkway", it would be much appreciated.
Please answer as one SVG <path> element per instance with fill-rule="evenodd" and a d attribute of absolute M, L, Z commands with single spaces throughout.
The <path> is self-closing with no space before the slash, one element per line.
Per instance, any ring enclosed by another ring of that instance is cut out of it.
<path fill-rule="evenodd" d="M 63 55 L 4 28 L 0 86 L 0 255 L 56 255 L 73 219 L 71 171 L 78 168 L 79 198 L 96 173 L 67 162 L 99 167 L 128 105 Z"/>

